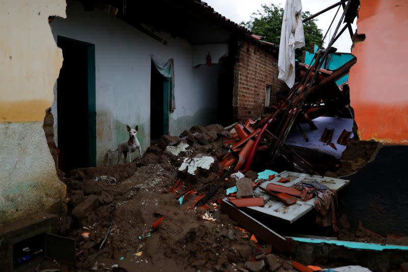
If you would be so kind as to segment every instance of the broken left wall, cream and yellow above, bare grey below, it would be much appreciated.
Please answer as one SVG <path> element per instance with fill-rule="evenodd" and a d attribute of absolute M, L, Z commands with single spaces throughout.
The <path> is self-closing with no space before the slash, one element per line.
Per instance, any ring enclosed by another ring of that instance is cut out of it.
<path fill-rule="evenodd" d="M 0 223 L 57 211 L 66 194 L 42 128 L 62 65 L 48 25 L 65 0 L 0 0 Z"/>

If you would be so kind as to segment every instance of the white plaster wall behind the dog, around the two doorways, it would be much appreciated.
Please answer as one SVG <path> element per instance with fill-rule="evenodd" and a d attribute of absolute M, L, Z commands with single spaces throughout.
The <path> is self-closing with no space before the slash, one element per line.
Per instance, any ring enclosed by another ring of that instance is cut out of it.
<path fill-rule="evenodd" d="M 126 124 L 139 125 L 143 151 L 149 145 L 150 54 L 174 59 L 176 110 L 169 116 L 170 134 L 216 121 L 218 66 L 192 68 L 193 47 L 186 40 L 160 33 L 168 41 L 163 45 L 103 11 L 84 11 L 77 2 L 68 5 L 66 19 L 56 18 L 50 26 L 56 40 L 60 35 L 95 44 L 98 165 L 108 149 L 127 139 Z"/>

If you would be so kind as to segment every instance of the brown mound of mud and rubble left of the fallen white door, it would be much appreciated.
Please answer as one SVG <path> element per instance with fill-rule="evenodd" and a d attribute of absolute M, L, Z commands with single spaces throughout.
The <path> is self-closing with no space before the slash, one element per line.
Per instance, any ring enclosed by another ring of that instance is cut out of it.
<path fill-rule="evenodd" d="M 218 159 L 228 152 L 221 138 L 230 136 L 219 125 L 195 126 L 181 137 L 163 136 L 132 163 L 67 173 L 68 210 L 58 229 L 77 240 L 78 267 L 243 269 L 267 252 L 268 245 L 240 238 L 219 203 L 188 209 L 219 182 Z"/>

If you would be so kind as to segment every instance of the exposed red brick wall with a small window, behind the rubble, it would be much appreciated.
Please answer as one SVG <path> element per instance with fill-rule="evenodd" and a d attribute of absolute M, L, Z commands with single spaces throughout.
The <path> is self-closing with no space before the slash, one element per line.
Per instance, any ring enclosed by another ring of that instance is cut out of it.
<path fill-rule="evenodd" d="M 277 55 L 248 41 L 241 41 L 234 68 L 234 116 L 243 121 L 258 118 L 265 103 L 266 85 L 271 88 L 271 101 L 277 93 L 286 91 L 285 82 L 278 80 Z"/>

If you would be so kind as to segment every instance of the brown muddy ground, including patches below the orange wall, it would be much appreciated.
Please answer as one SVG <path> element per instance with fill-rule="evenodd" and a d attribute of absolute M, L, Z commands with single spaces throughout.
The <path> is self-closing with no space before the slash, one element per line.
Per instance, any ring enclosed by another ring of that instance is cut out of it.
<path fill-rule="evenodd" d="M 77 241 L 77 267 L 47 262 L 34 270 L 294 271 L 290 256 L 279 256 L 270 245 L 250 240 L 250 233 L 220 213 L 218 200 L 225 196 L 226 188 L 235 185 L 233 181 L 224 183 L 209 202 L 215 220 L 202 218 L 208 210 L 189 209 L 197 195 L 186 197 L 180 204 L 169 192 L 178 179 L 187 184 L 180 191 L 190 188 L 205 193 L 216 184 L 222 170 L 217 160 L 210 169 L 199 170 L 194 176 L 178 169 L 184 157 L 202 154 L 221 158 L 227 153 L 221 138 L 230 135 L 221 126 L 210 125 L 193 127 L 180 136 L 187 136 L 183 142 L 189 147 L 178 155 L 165 149 L 169 142 L 180 138 L 164 136 L 148 147 L 142 159 L 132 163 L 69 171 L 63 178 L 68 188 L 67 210 L 59 220 L 58 230 Z M 343 156 L 343 167 L 327 174 L 351 174 L 372 159 L 376 150 L 376 143 L 354 141 Z M 104 179 L 95 181 L 101 176 L 115 178 L 116 184 Z M 111 214 L 110 236 L 99 251 L 110 228 Z M 153 229 L 152 223 L 163 216 L 161 225 Z M 340 239 L 385 242 L 385 238 L 381 240 L 362 226 L 351 230 L 344 217 L 340 222 Z"/>

